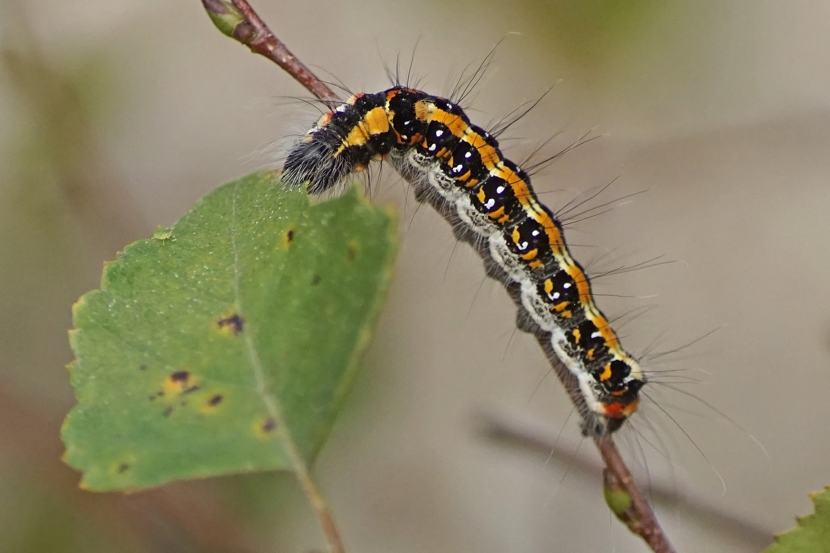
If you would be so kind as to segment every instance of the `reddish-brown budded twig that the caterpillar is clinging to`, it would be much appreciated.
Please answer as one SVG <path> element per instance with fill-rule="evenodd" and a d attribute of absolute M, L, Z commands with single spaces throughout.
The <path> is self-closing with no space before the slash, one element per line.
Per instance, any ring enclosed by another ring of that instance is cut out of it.
<path fill-rule="evenodd" d="M 286 70 L 289 75 L 298 80 L 301 85 L 305 86 L 317 99 L 323 102 L 338 101 L 338 96 L 300 60 L 291 54 L 291 51 L 274 36 L 265 22 L 261 20 L 261 17 L 256 14 L 246 0 L 231 0 L 231 2 L 227 2 L 226 0 L 202 0 L 202 3 L 205 9 L 207 9 L 207 13 L 210 15 L 212 21 L 222 33 L 248 46 L 251 48 L 251 51 L 266 56 L 269 60 L 280 65 L 282 69 Z M 406 177 L 404 176 L 404 178 Z M 454 227 L 457 215 L 448 209 L 446 202 L 435 198 L 427 198 L 427 201 Z M 489 251 L 485 250 L 482 245 L 476 245 L 472 242 L 470 244 L 478 251 L 485 262 L 490 259 Z M 511 290 L 508 287 L 507 291 L 510 293 L 514 302 L 521 307 L 521 301 L 516 296 L 516 290 Z M 574 385 L 573 379 L 569 379 L 568 375 L 565 374 L 567 371 L 564 370 L 559 359 L 549 347 L 549 335 L 546 336 L 544 332 L 534 333 L 536 339 L 545 350 L 554 371 L 559 376 L 559 379 L 563 381 L 565 389 L 569 391 L 572 399 L 575 398 L 576 395 L 579 395 L 579 389 Z M 607 436 L 594 441 L 608 468 L 608 483 L 624 490 L 631 498 L 630 507 L 626 511 L 626 515 L 636 523 L 627 523 L 628 528 L 639 536 L 642 536 L 642 539 L 647 542 L 648 546 L 655 553 L 675 553 L 674 548 L 669 543 L 657 522 L 652 507 L 648 505 L 645 497 L 642 496 L 642 492 L 637 488 L 637 484 L 634 483 L 631 472 L 629 472 L 623 462 L 623 458 L 620 457 L 616 446 L 613 444 L 613 439 Z M 313 504 L 315 500 L 320 498 L 319 496 L 311 497 L 308 493 L 306 495 L 309 496 Z M 325 509 L 325 506 L 323 507 Z M 318 512 L 318 518 L 320 518 L 320 512 Z M 324 521 L 320 519 L 320 523 L 324 528 L 327 522 L 330 522 L 330 520 Z M 333 526 L 331 529 L 333 530 Z M 330 542 L 330 546 L 333 549 L 336 545 L 338 544 Z"/>

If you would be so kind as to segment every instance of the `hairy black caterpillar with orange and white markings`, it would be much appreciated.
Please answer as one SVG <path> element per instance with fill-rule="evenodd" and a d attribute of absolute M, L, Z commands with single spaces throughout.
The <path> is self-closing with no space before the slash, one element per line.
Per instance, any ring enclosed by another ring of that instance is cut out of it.
<path fill-rule="evenodd" d="M 579 382 L 583 433 L 609 434 L 637 410 L 642 369 L 620 345 L 571 256 L 562 226 L 530 177 L 452 100 L 401 86 L 357 94 L 324 114 L 288 154 L 283 177 L 325 192 L 386 158 L 453 221 L 519 305 L 517 322 L 544 335 Z"/>

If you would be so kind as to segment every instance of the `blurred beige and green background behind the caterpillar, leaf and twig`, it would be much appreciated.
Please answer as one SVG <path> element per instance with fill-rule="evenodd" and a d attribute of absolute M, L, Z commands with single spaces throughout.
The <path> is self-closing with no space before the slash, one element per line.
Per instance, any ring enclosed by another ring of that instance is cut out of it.
<path fill-rule="evenodd" d="M 667 534 L 760 551 L 812 512 L 830 483 L 830 4 L 254 6 L 352 90 L 387 88 L 400 55 L 446 95 L 504 39 L 471 119 L 553 87 L 505 152 L 600 137 L 535 187 L 555 209 L 619 177 L 583 206 L 613 210 L 569 241 L 627 348 L 678 350 L 646 362 L 660 383 L 618 439 Z M 198 0 L 0 2 L 0 551 L 325 548 L 291 475 L 92 494 L 58 438 L 71 303 L 121 247 L 274 163 L 317 116 L 291 96 L 307 93 Z M 610 516 L 593 445 L 503 290 L 385 173 L 397 276 L 316 467 L 350 551 L 646 551 Z"/>

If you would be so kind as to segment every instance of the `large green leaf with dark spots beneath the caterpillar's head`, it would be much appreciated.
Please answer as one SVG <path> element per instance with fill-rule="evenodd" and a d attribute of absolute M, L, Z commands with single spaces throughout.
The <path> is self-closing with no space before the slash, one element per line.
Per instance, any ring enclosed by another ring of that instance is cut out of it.
<path fill-rule="evenodd" d="M 172 230 L 127 246 L 73 308 L 78 405 L 62 437 L 81 487 L 290 469 L 291 445 L 310 463 L 395 250 L 394 216 L 356 190 L 313 204 L 270 173 L 219 187 Z"/>

